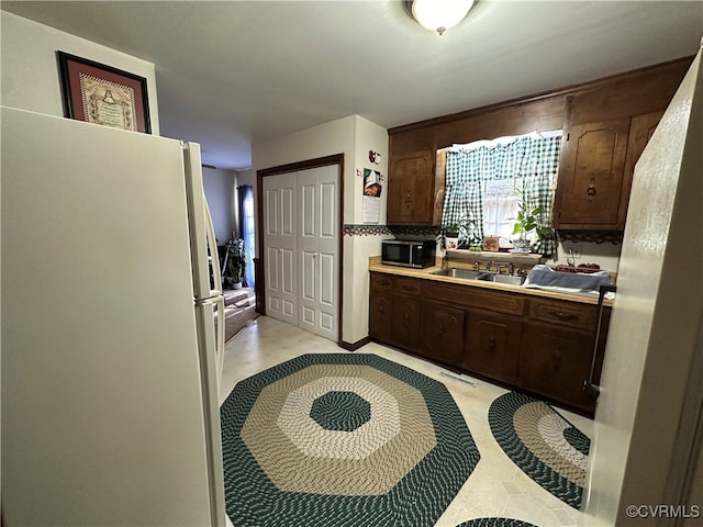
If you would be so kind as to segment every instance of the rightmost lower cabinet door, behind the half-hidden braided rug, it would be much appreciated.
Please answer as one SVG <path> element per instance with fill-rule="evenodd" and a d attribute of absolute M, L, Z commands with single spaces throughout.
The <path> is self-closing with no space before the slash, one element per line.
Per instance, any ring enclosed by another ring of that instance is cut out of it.
<path fill-rule="evenodd" d="M 590 413 L 595 410 L 595 396 L 583 390 L 591 369 L 591 333 L 532 324 L 522 343 L 518 383 L 523 388 Z"/>

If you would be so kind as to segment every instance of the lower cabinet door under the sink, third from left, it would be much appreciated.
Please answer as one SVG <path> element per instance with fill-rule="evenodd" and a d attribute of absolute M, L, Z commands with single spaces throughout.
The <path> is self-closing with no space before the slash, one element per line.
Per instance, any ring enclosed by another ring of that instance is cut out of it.
<path fill-rule="evenodd" d="M 421 352 L 460 366 L 464 356 L 464 310 L 423 301 Z"/>

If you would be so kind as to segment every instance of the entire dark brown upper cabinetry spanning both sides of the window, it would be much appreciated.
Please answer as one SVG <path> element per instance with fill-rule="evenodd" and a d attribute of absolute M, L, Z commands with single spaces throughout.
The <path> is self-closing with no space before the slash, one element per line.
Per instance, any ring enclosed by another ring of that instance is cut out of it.
<path fill-rule="evenodd" d="M 555 191 L 559 229 L 623 231 L 634 168 L 691 66 L 685 57 L 389 130 L 389 225 L 439 225 L 438 148 L 563 130 Z"/>

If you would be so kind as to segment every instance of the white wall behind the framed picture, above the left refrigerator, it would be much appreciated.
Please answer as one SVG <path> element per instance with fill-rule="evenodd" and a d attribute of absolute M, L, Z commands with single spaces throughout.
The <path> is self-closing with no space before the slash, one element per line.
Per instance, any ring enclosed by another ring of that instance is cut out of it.
<path fill-rule="evenodd" d="M 64 116 L 60 51 L 146 78 L 152 134 L 159 135 L 154 64 L 5 11 L 0 11 L 0 24 L 3 105 Z"/>

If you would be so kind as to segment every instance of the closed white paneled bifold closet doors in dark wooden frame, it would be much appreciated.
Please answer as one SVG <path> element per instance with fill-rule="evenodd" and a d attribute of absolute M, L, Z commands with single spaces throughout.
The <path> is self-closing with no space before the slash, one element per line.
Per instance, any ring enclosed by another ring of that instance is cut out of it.
<path fill-rule="evenodd" d="M 263 198 L 267 314 L 336 341 L 338 166 L 267 176 Z"/>

